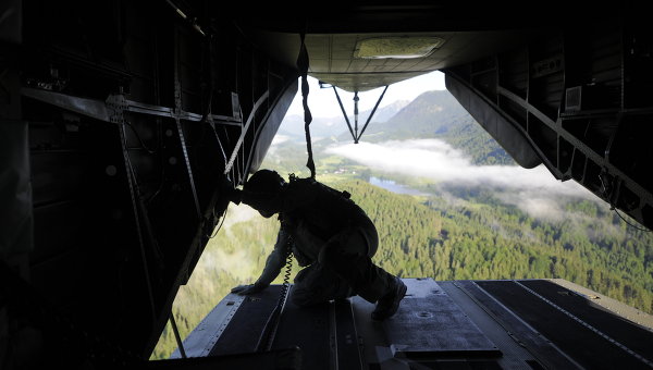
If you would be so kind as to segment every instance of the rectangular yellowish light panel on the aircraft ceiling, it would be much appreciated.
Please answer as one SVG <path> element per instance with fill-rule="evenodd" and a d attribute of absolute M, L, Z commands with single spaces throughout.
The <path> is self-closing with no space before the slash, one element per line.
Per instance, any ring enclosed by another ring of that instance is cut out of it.
<path fill-rule="evenodd" d="M 412 59 L 430 55 L 444 39 L 433 36 L 375 37 L 356 42 L 355 58 L 360 59 Z"/>

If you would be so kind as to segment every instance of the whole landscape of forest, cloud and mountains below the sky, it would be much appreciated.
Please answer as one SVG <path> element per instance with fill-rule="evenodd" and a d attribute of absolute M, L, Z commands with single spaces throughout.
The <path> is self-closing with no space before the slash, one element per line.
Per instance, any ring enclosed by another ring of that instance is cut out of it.
<path fill-rule="evenodd" d="M 516 165 L 446 90 L 378 113 L 385 121 L 373 121 L 359 144 L 342 116 L 316 119 L 311 132 L 317 178 L 349 192 L 375 222 L 379 266 L 436 281 L 559 278 L 653 312 L 650 232 L 543 166 Z M 304 139 L 301 118 L 286 118 L 261 168 L 308 176 Z M 232 287 L 256 280 L 278 227 L 230 206 L 175 300 L 182 336 Z M 175 348 L 168 325 L 152 358 Z"/>

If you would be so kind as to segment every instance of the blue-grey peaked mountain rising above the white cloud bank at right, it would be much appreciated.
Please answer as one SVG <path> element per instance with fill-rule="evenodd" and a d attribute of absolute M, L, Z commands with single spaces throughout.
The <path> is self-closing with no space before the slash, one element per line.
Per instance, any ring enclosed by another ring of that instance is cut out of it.
<path fill-rule="evenodd" d="M 342 134 L 338 140 L 350 140 Z M 362 141 L 440 138 L 465 151 L 475 164 L 515 164 L 447 90 L 427 91 L 386 122 L 370 123 Z"/>

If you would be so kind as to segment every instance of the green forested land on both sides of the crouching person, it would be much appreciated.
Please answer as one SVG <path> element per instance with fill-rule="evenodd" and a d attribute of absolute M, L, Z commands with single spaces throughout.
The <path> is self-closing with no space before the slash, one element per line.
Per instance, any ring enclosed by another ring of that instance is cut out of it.
<path fill-rule="evenodd" d="M 433 197 L 396 195 L 348 176 L 322 180 L 349 192 L 370 214 L 381 240 L 374 261 L 399 276 L 562 278 L 653 312 L 653 238 L 593 202 L 570 203 L 572 219 L 552 223 L 491 199 L 453 206 Z M 182 287 L 173 312 L 183 337 L 231 287 L 254 282 L 262 269 L 278 222 L 247 209 L 230 206 L 227 220 L 235 220 L 210 240 Z M 296 272 L 295 263 L 292 276 Z M 153 358 L 167 358 L 175 348 L 167 328 Z"/>

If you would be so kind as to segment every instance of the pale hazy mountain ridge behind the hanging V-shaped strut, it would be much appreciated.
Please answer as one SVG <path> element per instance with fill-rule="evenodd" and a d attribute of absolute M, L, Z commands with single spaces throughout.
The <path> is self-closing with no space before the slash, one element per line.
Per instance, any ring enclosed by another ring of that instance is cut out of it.
<path fill-rule="evenodd" d="M 397 100 L 387 106 L 381 107 L 377 109 L 374 115 L 372 116 L 372 121 L 369 126 L 375 123 L 383 123 L 387 120 L 392 119 L 398 111 L 401 111 L 404 107 L 408 106 L 410 101 L 408 100 Z M 371 110 L 361 111 L 358 114 L 358 126 L 359 130 L 365 125 Z M 349 135 L 349 128 L 347 128 L 347 122 L 343 116 L 342 112 L 338 110 L 337 115 L 332 118 L 315 118 L 310 123 L 310 134 L 315 139 L 325 138 L 325 137 L 337 137 L 342 134 L 346 134 L 349 139 L 352 136 Z M 347 111 L 349 115 L 349 122 L 352 126 L 354 126 L 354 111 Z M 279 127 L 279 134 L 289 137 L 292 140 L 300 140 L 304 141 L 304 115 L 288 115 L 286 116 L 281 126 Z"/>

